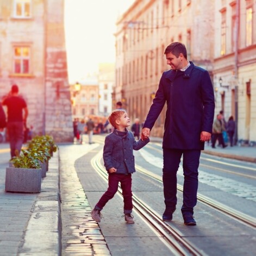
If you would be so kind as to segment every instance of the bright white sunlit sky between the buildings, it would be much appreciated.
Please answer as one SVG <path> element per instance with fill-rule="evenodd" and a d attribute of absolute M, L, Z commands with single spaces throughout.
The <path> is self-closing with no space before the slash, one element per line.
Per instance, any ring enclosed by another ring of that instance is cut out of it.
<path fill-rule="evenodd" d="M 65 0 L 65 32 L 70 83 L 115 61 L 116 20 L 134 0 Z"/>

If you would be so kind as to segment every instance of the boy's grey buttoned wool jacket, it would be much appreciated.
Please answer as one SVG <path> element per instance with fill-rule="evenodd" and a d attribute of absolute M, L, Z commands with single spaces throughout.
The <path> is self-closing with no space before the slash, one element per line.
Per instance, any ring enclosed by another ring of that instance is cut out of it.
<path fill-rule="evenodd" d="M 147 145 L 149 139 L 138 141 L 129 130 L 120 132 L 116 129 L 106 136 L 103 149 L 104 166 L 108 171 L 110 168 L 116 168 L 116 173 L 135 172 L 135 163 L 133 149 L 139 150 Z"/>

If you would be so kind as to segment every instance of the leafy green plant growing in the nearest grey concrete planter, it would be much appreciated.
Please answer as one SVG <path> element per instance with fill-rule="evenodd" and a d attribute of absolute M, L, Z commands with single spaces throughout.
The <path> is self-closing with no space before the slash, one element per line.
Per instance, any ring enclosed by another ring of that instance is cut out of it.
<path fill-rule="evenodd" d="M 28 150 L 22 149 L 19 157 L 14 157 L 11 159 L 11 163 L 16 168 L 30 168 L 30 169 L 40 169 L 41 166 L 33 154 Z"/>

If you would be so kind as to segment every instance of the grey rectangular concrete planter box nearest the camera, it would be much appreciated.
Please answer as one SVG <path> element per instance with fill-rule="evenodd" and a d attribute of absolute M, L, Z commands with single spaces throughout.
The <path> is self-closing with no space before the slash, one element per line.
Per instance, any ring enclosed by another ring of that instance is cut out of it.
<path fill-rule="evenodd" d="M 38 193 L 41 191 L 42 170 L 7 167 L 5 191 Z"/>

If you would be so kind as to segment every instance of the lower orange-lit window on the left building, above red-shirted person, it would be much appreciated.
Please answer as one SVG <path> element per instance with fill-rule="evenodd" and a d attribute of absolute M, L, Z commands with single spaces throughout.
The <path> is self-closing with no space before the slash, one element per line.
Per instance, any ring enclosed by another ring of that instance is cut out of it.
<path fill-rule="evenodd" d="M 14 73 L 28 74 L 30 61 L 30 47 L 14 47 Z"/>

